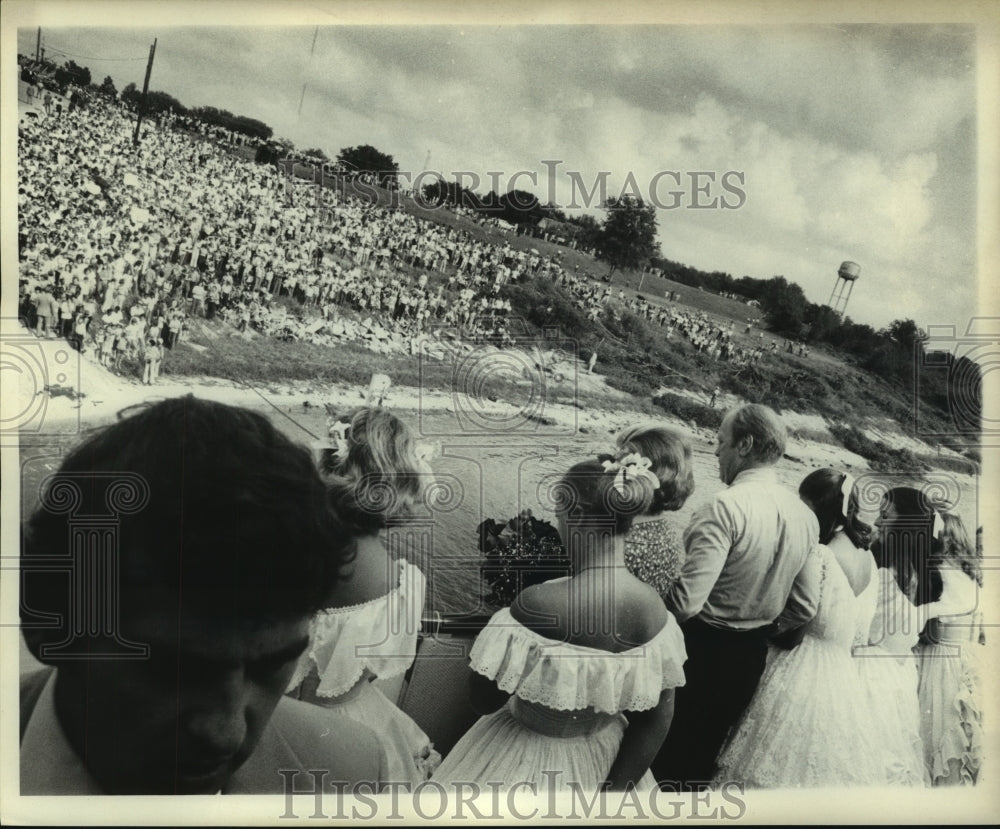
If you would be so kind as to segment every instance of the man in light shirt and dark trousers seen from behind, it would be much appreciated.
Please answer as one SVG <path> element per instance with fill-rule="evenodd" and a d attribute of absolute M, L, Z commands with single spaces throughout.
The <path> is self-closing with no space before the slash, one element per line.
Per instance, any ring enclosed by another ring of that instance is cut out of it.
<path fill-rule="evenodd" d="M 730 727 L 753 697 L 768 638 L 808 622 L 819 603 L 816 516 L 778 484 L 785 428 L 748 404 L 719 428 L 727 488 L 692 517 L 680 578 L 664 597 L 684 631 L 688 661 L 674 719 L 652 764 L 658 781 L 707 781 Z M 667 782 L 669 781 L 669 782 Z"/>

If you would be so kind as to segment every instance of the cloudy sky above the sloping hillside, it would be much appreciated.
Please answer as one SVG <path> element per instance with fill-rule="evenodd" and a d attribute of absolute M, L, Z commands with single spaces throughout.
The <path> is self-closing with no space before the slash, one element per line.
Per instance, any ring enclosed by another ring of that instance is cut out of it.
<path fill-rule="evenodd" d="M 972 26 L 130 20 L 140 25 L 45 27 L 46 54 L 141 86 L 156 37 L 152 89 L 259 118 L 299 147 L 373 144 L 414 175 L 429 154 L 427 169 L 478 176 L 480 192 L 513 180 L 597 215 L 586 193 L 603 173 L 608 195 L 628 185 L 663 205 L 670 259 L 783 274 L 815 302 L 850 259 L 858 321 L 964 329 L 975 313 Z M 35 36 L 19 29 L 18 51 L 33 53 Z"/>

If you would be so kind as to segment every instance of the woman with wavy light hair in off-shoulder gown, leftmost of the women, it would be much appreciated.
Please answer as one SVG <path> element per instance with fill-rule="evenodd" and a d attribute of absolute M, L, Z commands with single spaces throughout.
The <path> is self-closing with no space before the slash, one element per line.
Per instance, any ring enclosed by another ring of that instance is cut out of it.
<path fill-rule="evenodd" d="M 331 717 L 375 731 L 390 781 L 413 786 L 430 776 L 440 755 L 372 680 L 405 673 L 416 654 L 425 578 L 414 564 L 390 558 L 380 533 L 411 514 L 430 468 L 410 430 L 384 409 L 361 409 L 338 425 L 338 447 L 324 471 L 332 502 L 356 529 L 356 554 L 328 607 L 312 620 L 289 688 Z"/>

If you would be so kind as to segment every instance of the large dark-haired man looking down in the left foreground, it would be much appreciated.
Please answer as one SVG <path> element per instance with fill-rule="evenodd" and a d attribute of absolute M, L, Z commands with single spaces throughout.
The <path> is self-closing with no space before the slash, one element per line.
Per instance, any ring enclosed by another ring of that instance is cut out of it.
<path fill-rule="evenodd" d="M 283 696 L 351 548 L 307 450 L 192 396 L 71 452 L 24 527 L 21 794 L 376 789 L 374 734 Z M 330 783 L 327 783 L 329 786 Z"/>

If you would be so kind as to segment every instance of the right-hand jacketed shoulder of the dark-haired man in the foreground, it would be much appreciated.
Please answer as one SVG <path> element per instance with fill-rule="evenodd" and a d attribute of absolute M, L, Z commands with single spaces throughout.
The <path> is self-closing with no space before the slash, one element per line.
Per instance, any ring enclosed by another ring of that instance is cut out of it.
<path fill-rule="evenodd" d="M 326 772 L 324 787 L 337 783 L 371 784 L 384 778 L 385 760 L 375 733 L 348 717 L 318 705 L 282 697 L 250 759 L 226 790 L 245 794 L 283 794 L 293 772 Z M 300 778 L 296 788 L 310 788 Z M 318 785 L 318 784 L 317 784 Z"/>

